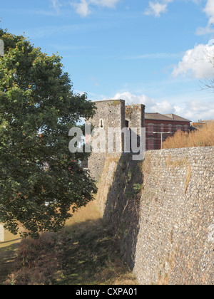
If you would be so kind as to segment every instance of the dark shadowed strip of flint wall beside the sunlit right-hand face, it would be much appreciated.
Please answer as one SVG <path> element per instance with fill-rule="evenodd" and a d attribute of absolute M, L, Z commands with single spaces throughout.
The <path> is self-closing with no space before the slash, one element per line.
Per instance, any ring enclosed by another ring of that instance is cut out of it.
<path fill-rule="evenodd" d="M 143 189 L 142 161 L 123 153 L 108 192 L 103 219 L 120 238 L 123 260 L 133 269 Z"/>

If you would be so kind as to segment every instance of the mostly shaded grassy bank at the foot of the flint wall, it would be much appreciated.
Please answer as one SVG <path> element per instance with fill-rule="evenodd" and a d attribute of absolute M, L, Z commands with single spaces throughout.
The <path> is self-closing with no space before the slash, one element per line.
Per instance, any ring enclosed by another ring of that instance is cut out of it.
<path fill-rule="evenodd" d="M 119 241 L 106 229 L 93 201 L 60 233 L 21 241 L 5 284 L 135 285 L 136 278 L 121 261 Z"/>

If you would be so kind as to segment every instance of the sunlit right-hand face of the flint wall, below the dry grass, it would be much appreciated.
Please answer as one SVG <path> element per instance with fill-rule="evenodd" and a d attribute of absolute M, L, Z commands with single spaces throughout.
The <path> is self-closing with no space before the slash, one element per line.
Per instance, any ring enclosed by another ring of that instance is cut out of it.
<path fill-rule="evenodd" d="M 143 165 L 139 283 L 213 284 L 214 148 L 148 152 Z"/>

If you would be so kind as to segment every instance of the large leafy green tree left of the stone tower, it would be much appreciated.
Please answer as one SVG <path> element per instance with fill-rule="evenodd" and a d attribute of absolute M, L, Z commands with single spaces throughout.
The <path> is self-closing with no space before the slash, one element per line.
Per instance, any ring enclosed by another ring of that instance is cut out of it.
<path fill-rule="evenodd" d="M 86 206 L 96 185 L 68 151 L 68 132 L 95 111 L 74 95 L 61 57 L 48 56 L 24 36 L 0 30 L 0 222 L 24 236 L 58 231 L 69 211 Z M 80 156 L 81 155 L 81 156 Z"/>

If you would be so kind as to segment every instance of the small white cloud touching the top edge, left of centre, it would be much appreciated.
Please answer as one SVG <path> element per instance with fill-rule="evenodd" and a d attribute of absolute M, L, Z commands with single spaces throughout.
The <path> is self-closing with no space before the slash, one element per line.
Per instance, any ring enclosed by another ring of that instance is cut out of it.
<path fill-rule="evenodd" d="M 78 2 L 71 2 L 71 6 L 76 9 L 76 13 L 81 16 L 88 16 L 91 14 L 91 6 L 107 7 L 114 9 L 120 0 L 80 0 Z"/>

